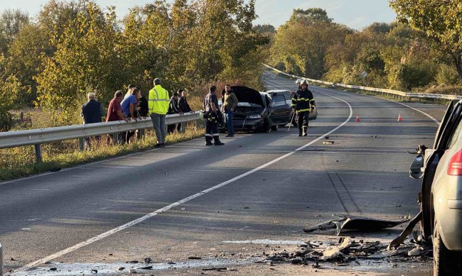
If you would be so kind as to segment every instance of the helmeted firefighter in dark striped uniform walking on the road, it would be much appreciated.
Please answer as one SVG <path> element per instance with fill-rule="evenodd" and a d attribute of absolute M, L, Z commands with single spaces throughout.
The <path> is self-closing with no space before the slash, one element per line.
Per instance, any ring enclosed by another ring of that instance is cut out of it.
<path fill-rule="evenodd" d="M 313 113 L 316 102 L 314 101 L 313 93 L 308 89 L 308 81 L 306 79 L 301 81 L 300 87 L 301 88 L 292 98 L 292 109 L 294 109 L 297 114 L 299 136 L 306 136 L 308 116 Z"/>

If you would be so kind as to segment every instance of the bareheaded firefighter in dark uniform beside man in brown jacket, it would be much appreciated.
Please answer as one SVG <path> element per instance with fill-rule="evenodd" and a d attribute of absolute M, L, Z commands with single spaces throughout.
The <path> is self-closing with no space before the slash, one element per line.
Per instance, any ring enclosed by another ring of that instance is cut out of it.
<path fill-rule="evenodd" d="M 220 111 L 218 110 L 218 99 L 215 92 L 217 87 L 211 85 L 209 87 L 209 93 L 205 96 L 204 99 L 204 111 L 205 118 L 205 145 L 225 145 L 220 141 L 220 134 L 218 133 L 218 116 L 221 116 Z M 214 143 L 212 143 L 214 140 Z"/>

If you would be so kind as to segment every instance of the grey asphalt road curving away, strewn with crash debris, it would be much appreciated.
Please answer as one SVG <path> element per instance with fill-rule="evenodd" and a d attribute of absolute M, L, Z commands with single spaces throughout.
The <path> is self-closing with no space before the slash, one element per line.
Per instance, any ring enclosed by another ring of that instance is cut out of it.
<path fill-rule="evenodd" d="M 264 79 L 268 89 L 295 89 L 294 80 L 270 72 Z M 408 177 L 414 156 L 407 150 L 431 145 L 437 124 L 416 109 L 440 119 L 444 106 L 311 89 L 318 118 L 308 137 L 296 128 L 238 133 L 222 138 L 222 147 L 197 139 L 0 182 L 5 275 L 124 275 L 133 267 L 127 261 L 148 257 L 151 275 L 217 273 L 203 270 L 210 266 L 228 268 L 219 275 L 303 275 L 315 269 L 254 260 L 301 241 L 337 240 L 333 231 L 301 231 L 332 214 L 417 214 L 419 181 Z M 325 136 L 334 143 L 324 144 Z M 401 229 L 347 235 L 390 241 Z M 320 272 L 431 275 L 431 263 L 326 264 Z"/>

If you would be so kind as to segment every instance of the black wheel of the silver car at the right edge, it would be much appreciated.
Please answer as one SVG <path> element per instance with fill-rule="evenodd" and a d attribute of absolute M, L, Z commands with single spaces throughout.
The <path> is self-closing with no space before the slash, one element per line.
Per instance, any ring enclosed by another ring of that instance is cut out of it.
<path fill-rule="evenodd" d="M 435 221 L 433 233 L 433 275 L 461 275 L 461 273 L 461 253 L 446 248 L 441 239 L 439 226 Z"/>

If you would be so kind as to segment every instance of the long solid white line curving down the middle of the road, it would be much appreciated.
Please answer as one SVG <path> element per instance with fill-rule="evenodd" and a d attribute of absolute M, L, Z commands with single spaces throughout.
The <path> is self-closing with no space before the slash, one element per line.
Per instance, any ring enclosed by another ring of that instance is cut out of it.
<path fill-rule="evenodd" d="M 322 93 L 322 94 L 324 94 L 324 93 Z M 328 95 L 328 94 L 325 94 L 325 95 L 330 96 L 330 95 Z M 340 100 L 340 101 L 343 101 L 343 102 L 345 102 L 345 104 L 348 104 L 348 102 L 347 102 L 347 101 L 344 101 L 343 99 L 337 98 L 337 97 L 335 97 L 335 96 L 331 96 L 331 97 L 333 97 L 334 99 L 338 99 L 338 100 Z M 306 145 L 302 145 L 300 148 L 297 148 L 296 150 L 293 150 L 293 151 L 291 151 L 290 153 L 286 153 L 285 155 L 282 155 L 282 156 L 279 157 L 279 158 L 276 158 L 276 159 L 274 159 L 274 160 L 272 160 L 272 161 L 270 161 L 270 162 L 267 162 L 267 163 L 264 164 L 264 165 L 261 165 L 261 166 L 259 166 L 259 167 L 256 167 L 256 168 L 254 168 L 253 170 L 249 170 L 249 172 L 245 172 L 245 173 L 243 173 L 242 175 L 238 175 L 237 177 L 233 177 L 233 178 L 230 179 L 230 180 L 227 180 L 227 181 L 222 182 L 222 183 L 220 183 L 220 184 L 217 184 L 217 185 L 215 185 L 215 186 L 213 186 L 213 187 L 210 187 L 210 188 L 208 188 L 208 189 L 205 189 L 205 190 L 203 190 L 202 192 L 198 192 L 197 194 L 193 194 L 193 195 L 190 196 L 190 197 L 186 197 L 185 199 L 181 199 L 181 200 L 178 201 L 178 202 L 174 202 L 174 203 L 172 203 L 172 204 L 170 204 L 170 205 L 168 205 L 168 206 L 165 206 L 165 207 L 163 207 L 163 208 L 161 208 L 161 209 L 158 209 L 158 210 L 156 210 L 156 211 L 154 211 L 154 212 L 152 212 L 152 213 L 150 213 L 150 214 L 147 214 L 146 216 L 141 216 L 139 219 L 135 219 L 134 221 L 130 221 L 129 223 L 125 223 L 125 224 L 122 225 L 122 226 L 119 226 L 119 227 L 117 227 L 117 228 L 114 228 L 114 229 L 112 229 L 112 230 L 109 230 L 109 231 L 107 231 L 107 232 L 104 232 L 104 233 L 102 233 L 102 234 L 100 234 L 100 235 L 98 235 L 98 236 L 95 236 L 95 237 L 93 237 L 93 238 L 89 238 L 87 241 L 82 241 L 82 243 L 77 243 L 76 245 L 72 245 L 70 248 L 65 248 L 65 249 L 60 250 L 59 252 L 57 252 L 57 253 L 55 253 L 55 254 L 49 255 L 49 256 L 47 256 L 47 257 L 45 257 L 45 258 L 41 258 L 40 260 L 36 260 L 36 261 L 34 261 L 34 262 L 32 262 L 32 263 L 28 263 L 27 265 L 24 265 L 23 267 L 20 267 L 20 268 L 18 269 L 18 271 L 23 271 L 23 270 L 31 269 L 32 267 L 36 267 L 37 265 L 41 265 L 41 264 L 43 264 L 43 263 L 45 263 L 45 262 L 48 262 L 48 261 L 53 260 L 53 259 L 55 259 L 55 258 L 59 258 L 59 257 L 62 256 L 62 255 L 65 255 L 65 254 L 70 253 L 70 252 L 72 252 L 72 251 L 75 251 L 75 250 L 77 250 L 77 249 L 79 249 L 79 248 L 82 248 L 82 247 L 84 247 L 85 245 L 89 245 L 89 244 L 91 244 L 91 243 L 95 243 L 95 241 L 100 241 L 102 238 L 106 238 L 107 236 L 111 236 L 111 235 L 114 234 L 114 233 L 117 233 L 117 232 L 119 232 L 119 231 L 123 231 L 124 229 L 129 228 L 130 226 L 134 226 L 134 225 L 136 225 L 137 223 L 140 223 L 140 222 L 142 222 L 142 221 L 146 221 L 146 219 L 151 219 L 153 216 L 157 216 L 158 214 L 161 214 L 161 213 L 163 213 L 163 212 L 165 212 L 165 211 L 168 211 L 168 210 L 172 209 L 173 207 L 176 207 L 176 206 L 178 206 L 178 205 L 180 205 L 180 204 L 189 202 L 190 200 L 195 199 L 196 197 L 200 197 L 200 196 L 202 196 L 202 195 L 204 195 L 204 194 L 207 194 L 207 193 L 209 193 L 209 192 L 212 192 L 212 191 L 215 190 L 215 189 L 218 189 L 218 188 L 223 187 L 223 186 L 225 186 L 225 185 L 227 185 L 227 184 L 230 184 L 230 183 L 232 183 L 232 182 L 235 182 L 235 181 L 237 181 L 237 180 L 240 180 L 240 179 L 243 178 L 243 177 L 247 177 L 247 175 L 252 175 L 254 172 L 258 172 L 259 170 L 262 170 L 262 169 L 264 169 L 265 167 L 268 167 L 269 165 L 273 165 L 274 163 L 279 162 L 280 160 L 283 160 L 284 158 L 288 158 L 289 156 L 293 155 L 294 153 L 297 153 L 297 152 L 299 152 L 300 150 L 303 150 L 304 148 L 306 148 L 306 147 L 308 147 L 308 146 L 310 146 L 310 145 L 313 145 L 313 143 L 316 143 L 318 140 L 321 140 L 321 139 L 323 139 L 325 136 L 328 136 L 329 134 L 331 134 L 331 133 L 337 131 L 338 128 L 341 128 L 342 126 L 345 126 L 345 124 L 348 123 L 348 121 L 350 121 L 350 118 L 353 116 L 353 109 L 351 108 L 350 104 L 348 104 L 348 107 L 349 107 L 349 109 L 350 109 L 350 116 L 348 116 L 348 118 L 347 118 L 343 123 L 341 123 L 340 126 L 337 126 L 337 127 L 334 128 L 332 131 L 329 131 L 328 133 L 324 134 L 323 136 L 320 136 L 319 138 L 316 138 L 315 140 L 312 140 L 310 143 L 307 143 Z"/>

